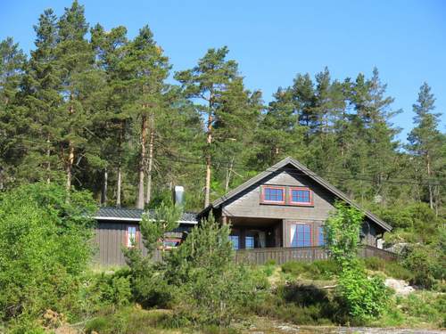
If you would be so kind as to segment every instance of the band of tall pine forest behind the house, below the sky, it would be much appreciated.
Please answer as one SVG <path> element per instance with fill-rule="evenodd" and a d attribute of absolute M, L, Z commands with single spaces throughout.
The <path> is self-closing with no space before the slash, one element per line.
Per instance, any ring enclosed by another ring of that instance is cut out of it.
<path fill-rule="evenodd" d="M 444 215 L 446 135 L 426 83 L 402 144 L 377 69 L 298 74 L 264 105 L 227 47 L 174 73 L 147 26 L 134 38 L 90 28 L 77 1 L 60 17 L 45 10 L 34 29 L 29 57 L 12 38 L 0 45 L 2 189 L 65 183 L 143 208 L 182 184 L 196 210 L 290 155 L 368 207 L 426 203 Z"/>

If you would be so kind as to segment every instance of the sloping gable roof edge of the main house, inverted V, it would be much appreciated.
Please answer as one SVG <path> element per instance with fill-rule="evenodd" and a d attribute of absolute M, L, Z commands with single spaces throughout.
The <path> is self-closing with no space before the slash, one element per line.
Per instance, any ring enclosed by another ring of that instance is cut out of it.
<path fill-rule="evenodd" d="M 293 159 L 291 157 L 287 157 L 287 158 L 277 162 L 276 165 L 274 165 L 272 167 L 269 167 L 266 171 L 264 171 L 264 172 L 262 172 L 262 173 L 260 173 L 258 175 L 255 175 L 250 180 L 246 181 L 245 183 L 240 184 L 234 190 L 227 192 L 226 195 L 220 197 L 218 200 L 214 200 L 211 203 L 211 205 L 208 208 L 205 208 L 204 210 L 202 210 L 202 212 L 198 216 L 201 216 L 202 213 L 204 213 L 206 211 L 209 211 L 211 208 L 218 208 L 223 203 L 225 203 L 227 200 L 232 199 L 233 197 L 235 197 L 240 192 L 242 192 L 245 189 L 251 187 L 253 184 L 258 183 L 260 180 L 264 179 L 265 177 L 268 177 L 268 175 L 271 175 L 271 174 L 277 172 L 277 170 L 279 170 L 280 168 L 285 167 L 286 165 L 292 165 L 293 167 L 301 170 L 301 172 L 304 175 L 307 175 L 308 177 L 310 177 L 311 180 L 313 180 L 314 182 L 316 182 L 319 185 L 321 185 L 327 191 L 330 191 L 337 198 L 339 198 L 339 199 L 349 203 L 354 208 L 358 208 L 360 211 L 362 211 L 368 217 L 368 219 L 370 219 L 372 222 L 378 224 L 379 226 L 383 227 L 385 231 L 391 231 L 392 230 L 392 226 L 391 225 L 385 223 L 383 220 L 381 220 L 379 217 L 377 217 L 374 214 L 372 214 L 370 211 L 368 211 L 368 210 L 366 210 L 364 208 L 361 208 L 359 206 L 359 204 L 357 204 L 353 200 L 349 199 L 349 197 L 345 193 L 343 193 L 343 191 L 340 191 L 334 185 L 332 185 L 330 183 L 327 183 L 326 180 L 324 180 L 322 177 L 316 175 L 315 173 L 310 171 L 309 168 L 303 166 L 298 160 Z"/>

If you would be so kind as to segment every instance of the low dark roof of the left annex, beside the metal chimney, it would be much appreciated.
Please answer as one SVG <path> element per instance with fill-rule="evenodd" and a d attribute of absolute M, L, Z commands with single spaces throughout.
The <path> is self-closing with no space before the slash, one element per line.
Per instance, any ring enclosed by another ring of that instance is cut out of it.
<path fill-rule="evenodd" d="M 149 210 L 153 212 L 153 210 Z M 113 220 L 113 221 L 128 221 L 139 222 L 145 210 L 139 208 L 99 208 L 96 212 L 95 219 L 97 220 Z M 183 212 L 179 223 L 196 224 L 196 214 L 194 212 Z"/>

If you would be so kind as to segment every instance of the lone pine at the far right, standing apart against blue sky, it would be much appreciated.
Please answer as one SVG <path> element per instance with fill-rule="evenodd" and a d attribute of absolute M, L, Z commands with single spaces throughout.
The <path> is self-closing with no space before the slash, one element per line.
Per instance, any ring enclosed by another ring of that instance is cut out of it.
<path fill-rule="evenodd" d="M 417 103 L 413 104 L 416 113 L 414 117 L 415 127 L 409 134 L 409 151 L 418 159 L 423 167 L 423 179 L 427 181 L 427 194 L 430 208 L 434 208 L 435 191 L 439 190 L 434 185 L 432 178 L 437 172 L 444 168 L 438 166 L 437 161 L 441 159 L 442 136 L 438 130 L 440 113 L 434 113 L 435 98 L 431 93 L 431 87 L 424 83 L 419 90 Z"/>

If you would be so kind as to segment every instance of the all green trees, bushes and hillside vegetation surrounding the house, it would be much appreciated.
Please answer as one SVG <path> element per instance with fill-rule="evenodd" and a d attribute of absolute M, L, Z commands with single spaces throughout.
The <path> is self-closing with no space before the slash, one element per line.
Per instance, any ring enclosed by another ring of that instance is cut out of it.
<path fill-rule="evenodd" d="M 446 326 L 446 133 L 428 83 L 401 141 L 376 68 L 296 73 L 265 102 L 227 46 L 174 71 L 149 26 L 130 38 L 84 11 L 45 10 L 29 54 L 0 42 L 0 331 L 230 333 L 259 316 Z M 141 223 L 153 251 L 178 226 L 175 185 L 198 212 L 286 156 L 391 224 L 384 247 L 404 245 L 400 261 L 357 258 L 363 217 L 337 203 L 327 261 L 234 265 L 229 228 L 211 217 L 163 263 L 126 248 L 127 267 L 92 269 L 98 206 L 153 208 L 162 224 Z M 395 297 L 386 278 L 419 291 Z"/>

